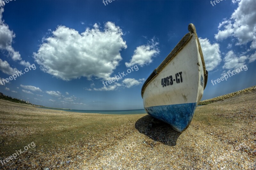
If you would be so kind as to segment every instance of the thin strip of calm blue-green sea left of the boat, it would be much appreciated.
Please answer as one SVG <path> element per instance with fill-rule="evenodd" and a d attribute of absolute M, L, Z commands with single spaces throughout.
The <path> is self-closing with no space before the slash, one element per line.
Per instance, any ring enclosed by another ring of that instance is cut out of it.
<path fill-rule="evenodd" d="M 46 108 L 46 107 L 39 107 Z M 113 114 L 113 115 L 131 115 L 131 114 L 145 114 L 145 109 L 139 110 L 66 110 L 66 109 L 55 109 L 55 108 L 46 108 L 52 110 L 63 110 L 66 112 L 77 112 L 77 113 L 100 113 L 100 114 Z"/>

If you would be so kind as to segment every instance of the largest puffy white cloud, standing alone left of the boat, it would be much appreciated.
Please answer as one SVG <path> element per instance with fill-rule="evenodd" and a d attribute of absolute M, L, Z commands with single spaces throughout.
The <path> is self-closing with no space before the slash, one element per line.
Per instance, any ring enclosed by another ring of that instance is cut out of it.
<path fill-rule="evenodd" d="M 120 51 L 127 48 L 122 30 L 112 22 L 107 22 L 103 31 L 97 24 L 81 34 L 58 26 L 52 34 L 34 58 L 41 70 L 63 80 L 92 76 L 108 79 L 122 60 Z"/>

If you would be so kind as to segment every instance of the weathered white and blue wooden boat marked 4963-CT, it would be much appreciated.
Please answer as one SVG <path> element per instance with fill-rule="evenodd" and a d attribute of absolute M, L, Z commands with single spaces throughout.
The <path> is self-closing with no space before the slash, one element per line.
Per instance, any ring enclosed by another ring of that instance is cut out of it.
<path fill-rule="evenodd" d="M 141 89 L 146 112 L 178 132 L 188 128 L 208 78 L 195 26 L 188 31 Z"/>

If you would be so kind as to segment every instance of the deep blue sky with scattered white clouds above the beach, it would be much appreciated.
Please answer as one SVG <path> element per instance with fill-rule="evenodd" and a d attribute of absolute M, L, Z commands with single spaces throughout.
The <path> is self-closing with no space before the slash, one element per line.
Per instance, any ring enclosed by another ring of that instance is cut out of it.
<path fill-rule="evenodd" d="M 209 74 L 202 100 L 256 85 L 255 0 L 110 2 L 0 4 L 0 79 L 13 75 L 0 92 L 46 107 L 143 109 L 144 81 L 189 23 Z"/>

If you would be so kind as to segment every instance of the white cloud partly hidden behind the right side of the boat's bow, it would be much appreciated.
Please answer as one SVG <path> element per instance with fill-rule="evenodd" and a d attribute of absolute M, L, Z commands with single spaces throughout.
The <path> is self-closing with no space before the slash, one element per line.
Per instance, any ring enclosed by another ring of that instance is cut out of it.
<path fill-rule="evenodd" d="M 221 62 L 220 45 L 218 43 L 211 44 L 211 42 L 205 38 L 199 38 L 199 42 L 204 55 L 205 67 L 208 71 L 215 69 Z"/>

